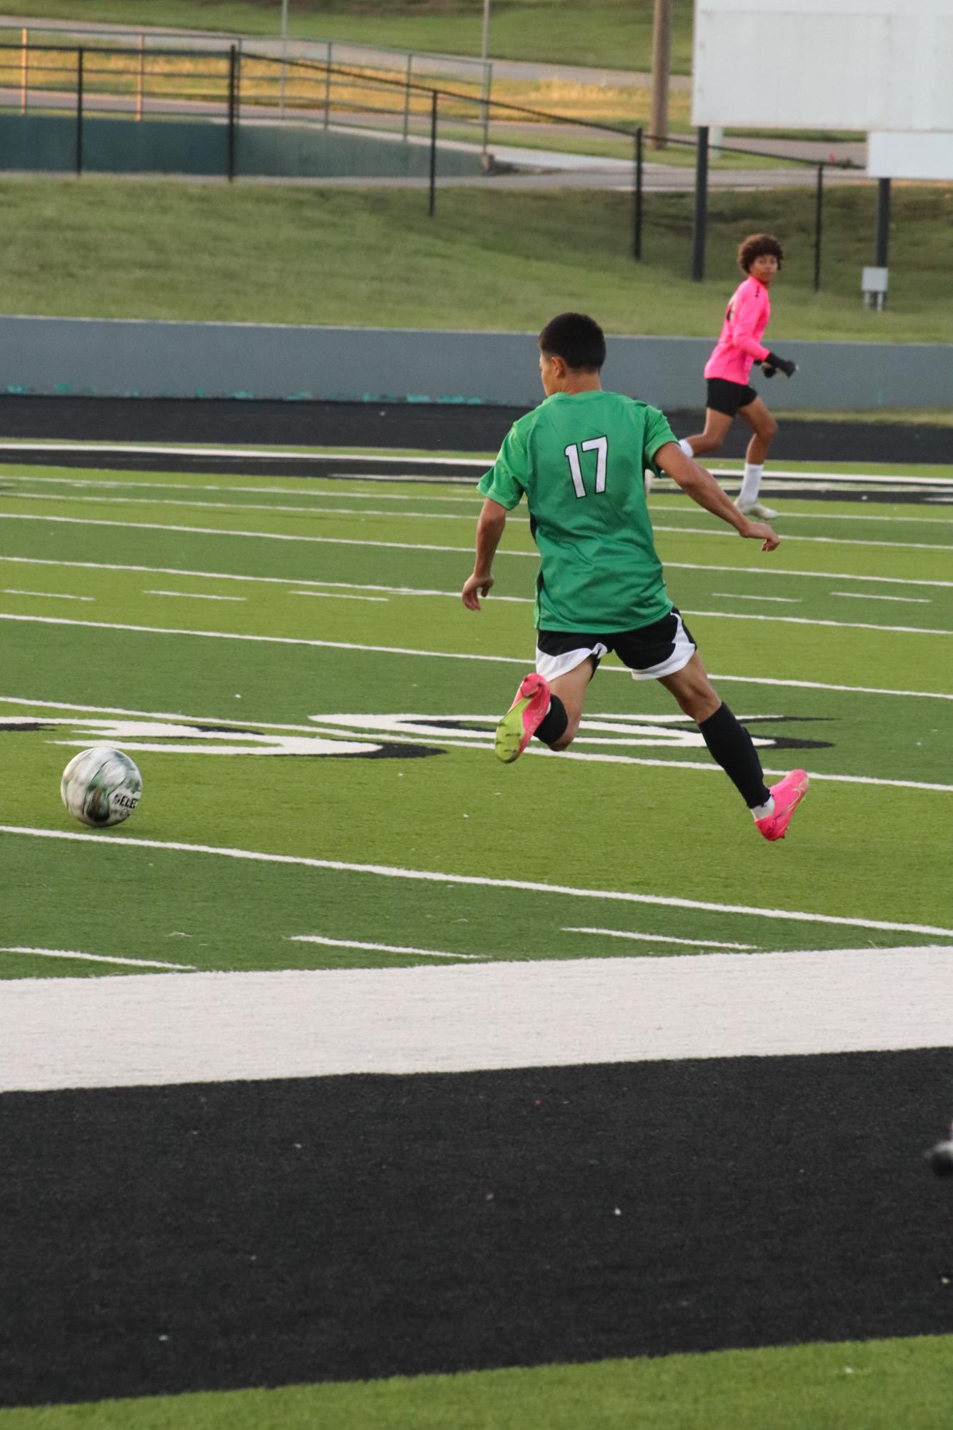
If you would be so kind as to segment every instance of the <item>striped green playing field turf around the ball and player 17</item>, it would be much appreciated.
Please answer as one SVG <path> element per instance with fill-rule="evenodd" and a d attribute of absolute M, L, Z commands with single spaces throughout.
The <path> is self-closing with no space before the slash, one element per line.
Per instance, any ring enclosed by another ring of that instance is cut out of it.
<path fill-rule="evenodd" d="M 690 887 L 706 902 L 737 902 L 740 888 L 753 907 L 947 927 L 943 869 L 922 859 L 920 834 L 926 805 L 937 837 L 949 797 L 877 781 L 949 784 L 949 706 L 876 694 L 953 694 L 944 656 L 953 599 L 943 585 L 953 541 L 944 506 L 784 500 L 786 539 L 776 556 L 764 556 L 754 543 L 720 535 L 684 498 L 664 488 L 653 496 L 670 591 L 716 684 L 734 678 L 722 685 L 724 698 L 756 735 L 823 742 L 804 754 L 766 748 L 766 768 L 783 772 L 800 759 L 814 772 L 862 781 L 816 781 L 780 851 L 753 837 L 700 744 L 673 744 L 652 722 L 634 742 L 577 746 L 650 761 L 629 765 L 543 755 L 504 769 L 486 741 L 466 748 L 453 725 L 430 735 L 446 752 L 414 759 L 200 754 L 187 731 L 161 736 L 159 749 L 137 749 L 139 741 L 156 744 L 154 716 L 211 722 L 227 728 L 223 735 L 237 726 L 224 742 L 239 749 L 254 745 L 243 729 L 274 738 L 350 731 L 351 739 L 373 741 L 361 716 L 400 712 L 464 726 L 477 719 L 489 731 L 532 655 L 536 559 L 517 515 L 497 558 L 494 595 L 479 615 L 466 612 L 456 592 L 470 569 L 477 506 L 459 488 L 390 489 L 360 479 L 287 486 L 9 465 L 0 490 L 0 615 L 27 619 L 0 622 L 0 719 L 66 725 L 4 732 L 3 822 L 79 829 L 59 802 L 59 772 L 74 749 L 110 738 L 100 716 L 141 716 L 141 728 L 111 738 L 140 764 L 146 795 L 133 821 L 93 841 L 4 841 L 11 887 L 50 888 L 56 897 L 9 901 L 0 942 L 139 951 L 207 968 L 394 962 L 289 942 L 307 932 L 493 958 L 630 952 L 619 941 L 590 938 L 583 947 L 567 935 L 573 895 L 553 904 L 544 892 L 500 891 L 487 901 L 479 887 L 449 885 L 421 902 L 429 885 L 360 869 L 247 864 L 189 849 L 144 854 L 123 842 L 500 879 L 513 875 L 527 807 L 556 828 L 572 827 L 576 852 L 570 874 L 546 842 L 524 848 L 523 879 L 660 897 Z M 889 579 L 852 579 L 866 575 Z M 660 686 L 633 686 L 613 665 L 597 676 L 590 715 L 674 714 Z M 860 689 L 772 686 L 772 679 Z M 783 716 L 783 725 L 766 716 Z M 401 738 L 399 728 L 387 734 Z M 599 729 L 583 735 L 600 738 Z M 216 748 L 210 738 L 199 744 Z M 659 759 L 666 764 L 652 764 Z M 609 845 L 607 811 L 616 831 Z M 692 848 L 682 839 L 686 818 Z M 699 847 L 717 849 L 717 858 L 699 861 Z M 136 902 L 134 928 L 110 927 L 104 935 L 99 905 L 84 892 L 96 869 Z M 763 948 L 907 937 L 662 905 L 613 907 L 613 918 L 642 932 Z M 34 967 L 29 957 L 7 955 L 1 971 L 111 970 Z"/>

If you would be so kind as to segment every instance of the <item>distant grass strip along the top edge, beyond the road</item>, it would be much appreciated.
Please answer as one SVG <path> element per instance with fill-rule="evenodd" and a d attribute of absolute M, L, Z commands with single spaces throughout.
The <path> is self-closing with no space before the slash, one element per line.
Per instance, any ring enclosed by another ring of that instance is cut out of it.
<path fill-rule="evenodd" d="M 76 20 L 74 0 L 23 0 L 17 14 Z M 274 37 L 279 0 L 83 0 L 81 19 L 130 26 L 180 26 Z M 574 0 L 493 0 L 490 57 L 652 69 L 653 0 L 587 0 L 584 23 Z M 396 49 L 479 56 L 483 0 L 291 0 L 296 39 L 353 40 Z M 692 7 L 673 7 L 672 69 L 692 67 Z"/>

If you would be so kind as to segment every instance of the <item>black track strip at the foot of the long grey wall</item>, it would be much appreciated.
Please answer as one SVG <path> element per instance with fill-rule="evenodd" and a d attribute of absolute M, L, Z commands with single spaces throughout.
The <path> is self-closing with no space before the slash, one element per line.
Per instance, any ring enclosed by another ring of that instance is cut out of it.
<path fill-rule="evenodd" d="M 607 380 L 609 378 L 610 375 Z M 664 400 L 662 405 L 664 406 Z M 524 412 L 523 406 L 453 402 L 261 402 L 236 398 L 47 398 L 0 393 L 0 436 L 494 452 L 512 423 Z M 666 412 L 677 435 L 700 432 L 704 426 L 702 410 Z M 740 458 L 746 442 L 747 428 L 736 422 L 720 455 Z M 863 419 L 820 422 L 784 418 L 772 448 L 772 460 L 782 465 L 950 462 L 952 453 L 950 428 L 866 423 Z"/>

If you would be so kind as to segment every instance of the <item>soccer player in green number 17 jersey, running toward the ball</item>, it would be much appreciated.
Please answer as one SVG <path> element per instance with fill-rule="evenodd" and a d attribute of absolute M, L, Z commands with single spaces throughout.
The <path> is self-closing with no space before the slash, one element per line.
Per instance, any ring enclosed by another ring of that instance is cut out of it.
<path fill-rule="evenodd" d="M 783 839 L 807 792 L 794 769 L 770 791 L 752 736 L 724 705 L 679 611 L 656 555 L 643 472 L 662 469 L 739 536 L 774 551 L 779 538 L 752 522 L 710 472 L 686 456 L 656 408 L 604 392 L 603 330 L 584 313 L 560 313 L 539 337 L 546 400 L 514 422 L 480 479 L 473 575 L 464 606 L 480 609 L 493 585 L 506 513 L 526 496 L 540 552 L 536 578 L 536 674 L 527 675 L 496 732 L 496 754 L 517 759 L 536 735 L 550 749 L 576 736 L 586 689 L 616 651 L 637 681 L 660 681 L 704 738 L 766 839 Z"/>

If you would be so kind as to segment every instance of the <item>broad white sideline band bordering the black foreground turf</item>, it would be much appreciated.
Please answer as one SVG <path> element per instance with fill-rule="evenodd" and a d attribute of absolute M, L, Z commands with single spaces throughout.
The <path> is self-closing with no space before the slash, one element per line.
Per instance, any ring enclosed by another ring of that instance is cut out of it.
<path fill-rule="evenodd" d="M 0 1091 L 946 1048 L 952 997 L 933 945 L 11 980 Z"/>

